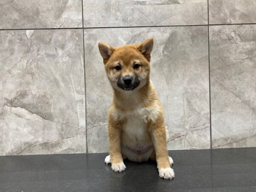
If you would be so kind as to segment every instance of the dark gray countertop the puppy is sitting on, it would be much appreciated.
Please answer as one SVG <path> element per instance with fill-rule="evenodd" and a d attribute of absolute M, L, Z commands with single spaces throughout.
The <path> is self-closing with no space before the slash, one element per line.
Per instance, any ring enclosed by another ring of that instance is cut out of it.
<path fill-rule="evenodd" d="M 2 156 L 0 191 L 256 192 L 256 148 L 169 151 L 174 180 L 152 161 L 125 160 L 125 172 L 113 172 L 106 155 Z"/>

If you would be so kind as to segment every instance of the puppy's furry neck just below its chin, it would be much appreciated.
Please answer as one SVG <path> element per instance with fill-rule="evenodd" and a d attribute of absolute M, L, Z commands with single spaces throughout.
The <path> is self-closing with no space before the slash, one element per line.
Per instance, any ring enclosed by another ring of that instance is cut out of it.
<path fill-rule="evenodd" d="M 139 90 L 119 91 L 114 89 L 113 104 L 121 110 L 133 110 L 138 107 L 147 107 L 157 95 L 150 80 Z"/>

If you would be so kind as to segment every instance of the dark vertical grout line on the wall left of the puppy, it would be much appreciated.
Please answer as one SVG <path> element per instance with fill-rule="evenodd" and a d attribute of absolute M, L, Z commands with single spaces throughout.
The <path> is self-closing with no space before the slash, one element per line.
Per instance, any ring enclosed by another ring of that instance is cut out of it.
<path fill-rule="evenodd" d="M 83 6 L 83 0 L 82 2 L 82 26 L 83 26 L 83 49 L 84 49 L 84 6 Z M 84 49 L 85 51 L 85 49 Z M 85 134 L 86 134 L 86 153 L 88 153 L 88 131 L 87 131 L 87 101 L 86 101 L 86 73 L 85 73 L 85 54 L 84 54 L 84 106 L 85 106 Z"/>

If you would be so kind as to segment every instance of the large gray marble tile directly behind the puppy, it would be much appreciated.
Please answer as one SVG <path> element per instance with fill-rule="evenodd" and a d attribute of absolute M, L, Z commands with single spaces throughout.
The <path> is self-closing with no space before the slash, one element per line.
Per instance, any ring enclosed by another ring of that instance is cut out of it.
<path fill-rule="evenodd" d="M 108 151 L 112 88 L 98 42 L 114 47 L 154 38 L 151 80 L 164 108 L 168 149 L 210 147 L 207 26 L 85 29 L 88 151 Z"/>

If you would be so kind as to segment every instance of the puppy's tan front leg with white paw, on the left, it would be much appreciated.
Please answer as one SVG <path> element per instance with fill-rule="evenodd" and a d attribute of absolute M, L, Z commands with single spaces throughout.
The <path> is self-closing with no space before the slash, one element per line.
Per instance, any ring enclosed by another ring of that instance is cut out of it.
<path fill-rule="evenodd" d="M 115 172 L 122 172 L 126 169 L 121 154 L 122 123 L 116 122 L 111 115 L 108 118 L 108 138 L 111 169 Z"/>

